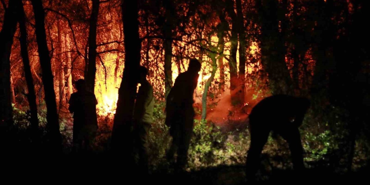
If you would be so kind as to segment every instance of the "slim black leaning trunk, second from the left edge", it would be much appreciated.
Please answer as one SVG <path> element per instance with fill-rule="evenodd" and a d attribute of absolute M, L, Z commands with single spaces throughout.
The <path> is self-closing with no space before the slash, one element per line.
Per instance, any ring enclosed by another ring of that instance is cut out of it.
<path fill-rule="evenodd" d="M 28 104 L 30 105 L 30 112 L 31 112 L 31 130 L 34 135 L 34 139 L 37 137 L 38 133 L 38 118 L 37 118 L 37 104 L 36 104 L 36 95 L 35 95 L 35 88 L 33 85 L 33 78 L 31 73 L 30 67 L 30 60 L 28 57 L 28 49 L 27 49 L 27 28 L 26 28 L 26 15 L 24 14 L 23 6 L 19 7 L 19 30 L 20 30 L 20 38 L 19 43 L 21 47 L 21 56 L 23 61 L 24 67 L 24 76 L 26 78 L 28 94 L 27 100 Z M 35 141 L 35 140 L 34 140 Z"/>

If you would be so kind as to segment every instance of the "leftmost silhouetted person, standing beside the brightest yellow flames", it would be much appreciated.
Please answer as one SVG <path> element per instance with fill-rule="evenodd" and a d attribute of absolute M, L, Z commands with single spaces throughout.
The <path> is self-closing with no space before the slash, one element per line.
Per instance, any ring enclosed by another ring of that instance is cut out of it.
<path fill-rule="evenodd" d="M 90 151 L 98 128 L 94 93 L 87 91 L 85 80 L 75 82 L 77 92 L 71 94 L 68 110 L 73 113 L 73 150 Z"/>

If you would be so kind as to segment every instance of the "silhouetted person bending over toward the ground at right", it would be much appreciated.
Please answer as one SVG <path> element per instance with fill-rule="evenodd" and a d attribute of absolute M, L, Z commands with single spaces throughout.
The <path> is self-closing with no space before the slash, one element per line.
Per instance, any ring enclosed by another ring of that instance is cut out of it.
<path fill-rule="evenodd" d="M 255 180 L 260 165 L 260 154 L 270 131 L 282 136 L 289 144 L 293 167 L 299 171 L 304 168 L 303 148 L 298 127 L 310 101 L 289 95 L 273 95 L 260 101 L 249 115 L 250 147 L 246 161 L 248 181 Z"/>

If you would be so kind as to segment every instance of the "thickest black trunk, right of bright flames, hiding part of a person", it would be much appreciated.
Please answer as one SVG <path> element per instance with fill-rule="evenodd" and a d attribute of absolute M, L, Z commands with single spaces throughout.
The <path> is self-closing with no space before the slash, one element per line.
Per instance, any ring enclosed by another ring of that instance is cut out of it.
<path fill-rule="evenodd" d="M 124 154 L 125 160 L 131 151 L 129 137 L 131 128 L 132 112 L 137 90 L 136 70 L 140 65 L 141 42 L 139 38 L 138 1 L 122 0 L 122 21 L 125 46 L 125 68 L 123 78 L 118 90 L 117 110 L 114 115 L 112 131 L 112 150 L 118 154 Z"/>

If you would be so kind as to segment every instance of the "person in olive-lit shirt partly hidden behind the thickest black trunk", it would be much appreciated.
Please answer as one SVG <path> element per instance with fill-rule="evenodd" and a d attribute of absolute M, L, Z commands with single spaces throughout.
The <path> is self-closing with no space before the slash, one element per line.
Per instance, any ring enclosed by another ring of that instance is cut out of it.
<path fill-rule="evenodd" d="M 148 173 L 148 143 L 147 134 L 153 122 L 154 97 L 153 87 L 147 80 L 148 70 L 140 66 L 138 70 L 139 91 L 134 107 L 134 148 L 139 155 L 139 168 L 142 173 Z"/>

